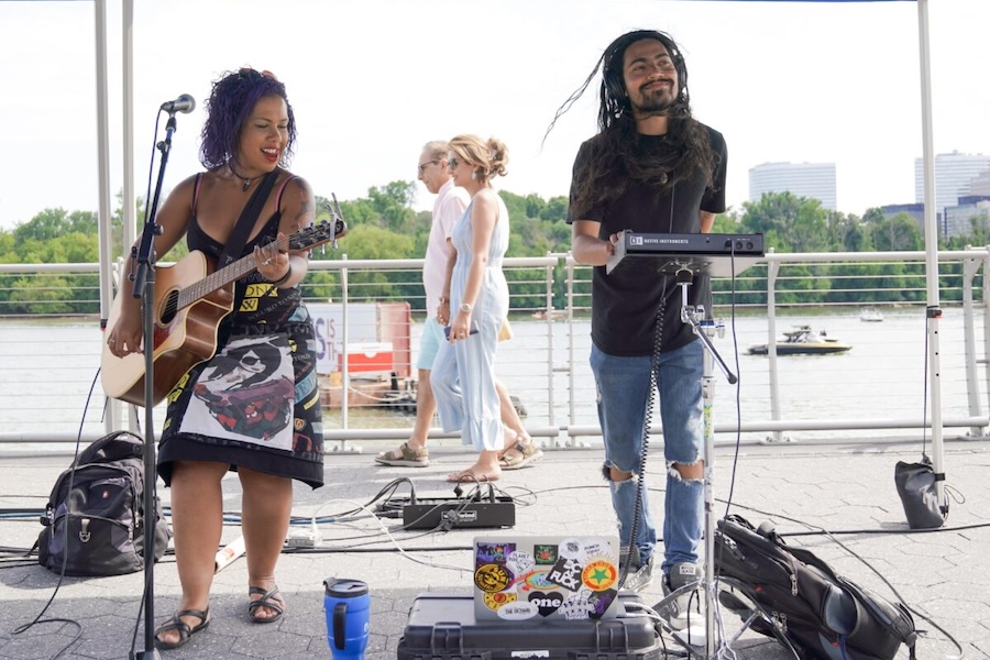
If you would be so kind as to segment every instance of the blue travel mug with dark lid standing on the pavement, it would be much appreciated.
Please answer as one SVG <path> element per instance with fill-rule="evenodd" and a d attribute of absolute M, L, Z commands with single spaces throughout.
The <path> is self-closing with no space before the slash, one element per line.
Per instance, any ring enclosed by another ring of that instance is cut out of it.
<path fill-rule="evenodd" d="M 360 580 L 327 578 L 323 587 L 327 642 L 333 660 L 364 660 L 371 615 L 367 584 Z"/>

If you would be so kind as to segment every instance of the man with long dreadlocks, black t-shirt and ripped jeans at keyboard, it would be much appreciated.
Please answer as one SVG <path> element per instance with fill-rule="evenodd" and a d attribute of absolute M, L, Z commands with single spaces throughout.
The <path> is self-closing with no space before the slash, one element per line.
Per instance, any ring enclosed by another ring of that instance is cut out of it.
<path fill-rule="evenodd" d="M 652 580 L 657 531 L 642 477 L 656 383 L 667 462 L 661 570 L 664 593 L 670 593 L 702 578 L 703 346 L 681 320 L 682 292 L 674 276 L 658 274 L 651 260 L 627 260 L 610 273 L 606 264 L 623 230 L 710 232 L 715 215 L 725 211 L 726 146 L 721 133 L 692 117 L 688 68 L 668 34 L 624 34 L 606 48 L 598 67 L 598 133 L 578 152 L 568 222 L 575 261 L 595 266 L 591 365 L 626 588 Z M 707 275 L 694 275 L 688 302 L 711 314 Z M 688 625 L 689 607 L 694 609 L 691 623 L 701 622 L 703 602 L 700 593 L 685 592 L 671 607 L 672 625 Z"/>

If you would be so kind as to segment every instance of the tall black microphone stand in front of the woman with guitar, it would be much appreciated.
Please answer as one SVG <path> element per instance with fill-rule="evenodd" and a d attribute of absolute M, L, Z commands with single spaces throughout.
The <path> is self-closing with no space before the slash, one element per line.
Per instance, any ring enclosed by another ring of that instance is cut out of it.
<path fill-rule="evenodd" d="M 157 528 L 157 483 L 155 462 L 154 427 L 154 375 L 155 375 L 155 237 L 162 228 L 155 223 L 158 197 L 165 178 L 165 166 L 172 151 L 172 134 L 175 133 L 175 111 L 168 113 L 165 124 L 165 140 L 156 145 L 162 152 L 158 180 L 155 194 L 141 234 L 141 243 L 132 249 L 135 270 L 131 275 L 134 297 L 141 299 L 142 324 L 144 328 L 144 650 L 131 653 L 131 660 L 158 660 L 155 647 L 155 529 Z"/>

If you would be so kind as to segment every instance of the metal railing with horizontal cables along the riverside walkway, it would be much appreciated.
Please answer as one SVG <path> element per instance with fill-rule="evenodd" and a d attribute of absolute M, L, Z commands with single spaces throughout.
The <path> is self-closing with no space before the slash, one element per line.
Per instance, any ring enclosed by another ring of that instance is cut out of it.
<path fill-rule="evenodd" d="M 942 422 L 960 435 L 981 436 L 990 424 L 988 262 L 990 250 L 982 248 L 938 254 L 945 315 L 939 321 L 944 367 L 937 384 L 947 393 Z M 769 253 L 735 280 L 716 278 L 713 301 L 721 332 L 713 344 L 740 374 L 738 387 L 724 381 L 716 385 L 716 433 L 783 441 L 793 433 L 827 438 L 850 430 L 889 435 L 927 428 L 926 406 L 936 376 L 927 373 L 925 361 L 924 263 L 922 252 Z M 884 267 L 893 265 L 899 274 L 884 275 Z M 332 301 L 340 315 L 342 327 L 328 338 L 331 343 L 346 346 L 353 337 L 382 331 L 359 326 L 370 322 L 359 314 L 362 306 L 404 304 L 413 319 L 407 356 L 394 365 L 402 376 L 351 373 L 346 358 L 339 378 L 328 375 L 328 389 L 371 392 L 372 402 L 374 393 L 384 393 L 377 406 L 352 406 L 344 395 L 326 407 L 328 451 L 408 437 L 409 407 L 393 404 L 404 393 L 406 403 L 415 399 L 418 333 L 425 318 L 421 266 L 422 260 L 358 261 L 346 255 L 311 262 L 304 295 L 314 305 Z M 499 345 L 497 369 L 509 392 L 518 395 L 527 428 L 549 446 L 598 437 L 587 366 L 591 268 L 566 254 L 549 254 L 507 258 L 505 272 L 515 338 Z M 0 329 L 7 338 L 0 348 L 0 406 L 9 413 L 0 442 L 67 442 L 80 432 L 91 440 L 103 435 L 108 424 L 142 419 L 128 407 L 111 405 L 96 378 L 100 314 L 67 317 L 57 311 L 59 300 L 99 309 L 98 286 L 64 284 L 69 276 L 98 274 L 97 264 L 0 265 Z M 326 274 L 331 277 L 321 277 Z M 18 292 L 24 290 L 56 311 L 10 314 L 8 301 L 23 305 L 25 296 Z M 884 322 L 860 322 L 865 305 L 880 309 Z M 746 353 L 749 344 L 772 344 L 785 322 L 826 323 L 832 334 L 838 327 L 854 338 L 854 350 L 838 360 Z M 660 431 L 659 421 L 652 430 Z M 436 425 L 431 436 L 441 442 L 454 438 Z"/>

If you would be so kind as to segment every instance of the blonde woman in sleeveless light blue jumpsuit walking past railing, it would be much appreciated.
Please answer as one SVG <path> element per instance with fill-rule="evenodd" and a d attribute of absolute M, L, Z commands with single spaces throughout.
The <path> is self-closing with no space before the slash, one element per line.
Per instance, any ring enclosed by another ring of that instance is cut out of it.
<path fill-rule="evenodd" d="M 502 260 L 508 248 L 505 202 L 492 189 L 505 176 L 508 154 L 495 139 L 458 135 L 450 141 L 449 170 L 471 204 L 454 226 L 451 243 L 457 261 L 450 276 L 450 341 L 440 348 L 430 385 L 444 432 L 461 431 L 464 444 L 479 450 L 474 465 L 451 474 L 453 482 L 495 481 L 502 474 L 504 447 L 495 348 L 508 312 L 508 285 Z"/>

